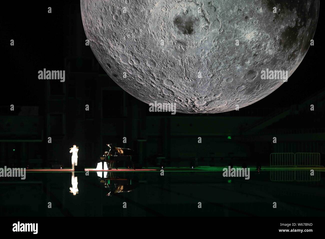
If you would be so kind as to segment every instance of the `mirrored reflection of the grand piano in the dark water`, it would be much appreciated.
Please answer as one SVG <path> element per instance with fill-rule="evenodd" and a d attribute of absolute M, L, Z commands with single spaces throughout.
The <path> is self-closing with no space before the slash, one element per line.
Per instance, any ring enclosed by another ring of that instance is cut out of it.
<path fill-rule="evenodd" d="M 114 177 L 112 172 L 97 172 L 97 176 L 100 177 L 100 183 L 106 189 L 106 196 L 115 193 L 128 193 L 135 188 L 131 179 Z"/>

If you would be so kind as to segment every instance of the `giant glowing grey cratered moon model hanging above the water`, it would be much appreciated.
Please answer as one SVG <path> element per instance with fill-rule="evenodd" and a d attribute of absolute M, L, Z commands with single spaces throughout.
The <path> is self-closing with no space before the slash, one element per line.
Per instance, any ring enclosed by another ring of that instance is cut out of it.
<path fill-rule="evenodd" d="M 97 60 L 125 91 L 181 113 L 253 104 L 303 60 L 319 0 L 81 0 Z"/>

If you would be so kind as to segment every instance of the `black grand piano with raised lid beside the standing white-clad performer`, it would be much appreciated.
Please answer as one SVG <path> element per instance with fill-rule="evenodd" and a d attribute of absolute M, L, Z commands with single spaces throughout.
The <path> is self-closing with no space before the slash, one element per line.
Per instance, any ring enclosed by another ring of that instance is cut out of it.
<path fill-rule="evenodd" d="M 115 147 L 111 143 L 106 145 L 108 146 L 108 151 L 105 151 L 103 156 L 99 158 L 96 167 L 97 170 L 110 170 L 114 166 L 118 169 L 122 162 L 126 167 L 134 167 L 132 163 L 134 151 L 132 149 Z"/>

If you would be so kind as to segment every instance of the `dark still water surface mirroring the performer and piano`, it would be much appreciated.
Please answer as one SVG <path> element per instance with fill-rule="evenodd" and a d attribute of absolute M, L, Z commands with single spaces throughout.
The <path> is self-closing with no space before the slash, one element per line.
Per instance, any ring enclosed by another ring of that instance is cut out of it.
<path fill-rule="evenodd" d="M 0 216 L 324 216 L 324 171 L 222 173 L 28 172 L 0 178 Z"/>

